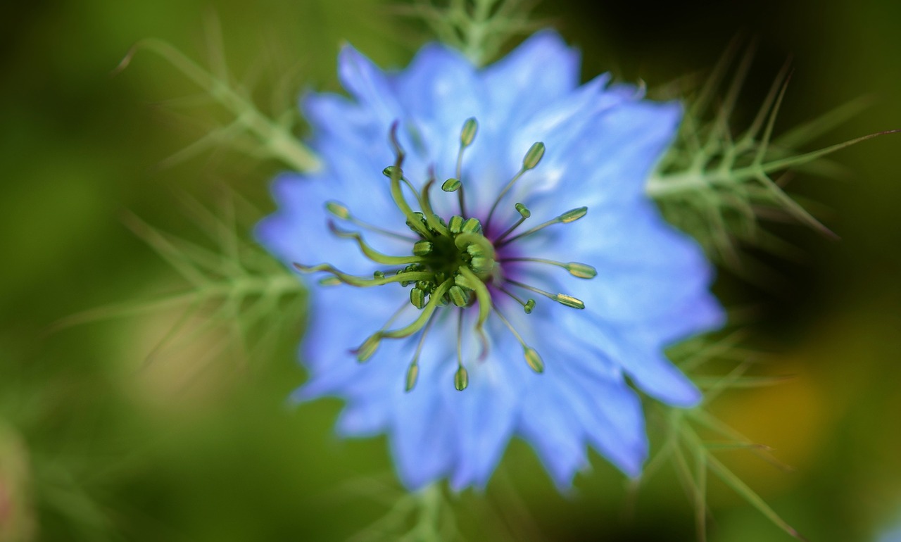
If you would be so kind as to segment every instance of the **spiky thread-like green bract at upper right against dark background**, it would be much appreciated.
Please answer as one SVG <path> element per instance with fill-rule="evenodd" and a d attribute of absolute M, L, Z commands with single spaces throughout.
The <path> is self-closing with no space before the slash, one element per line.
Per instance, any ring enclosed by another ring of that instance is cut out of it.
<path fill-rule="evenodd" d="M 723 98 L 717 100 L 734 50 L 734 46 L 727 50 L 705 86 L 687 100 L 677 139 L 648 180 L 647 193 L 660 204 L 666 219 L 694 236 L 710 257 L 741 272 L 737 245 L 742 243 L 784 257 L 796 254 L 796 248 L 761 229 L 761 220 L 781 220 L 788 216 L 833 236 L 784 192 L 789 178 L 787 170 L 806 167 L 811 172 L 832 174 L 834 167 L 821 158 L 892 131 L 869 134 L 812 152 L 799 152 L 824 131 L 859 113 L 864 105 L 859 100 L 774 137 L 779 106 L 790 78 L 786 65 L 751 124 L 735 133 L 731 125 L 733 112 L 751 68 L 753 48 L 738 64 Z"/>

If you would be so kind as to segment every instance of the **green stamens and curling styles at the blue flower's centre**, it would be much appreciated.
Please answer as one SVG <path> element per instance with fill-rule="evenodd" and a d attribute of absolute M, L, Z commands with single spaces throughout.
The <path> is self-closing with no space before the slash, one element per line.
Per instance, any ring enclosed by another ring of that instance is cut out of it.
<path fill-rule="evenodd" d="M 479 359 L 487 357 L 488 340 L 485 334 L 484 326 L 489 315 L 494 312 L 498 319 L 502 321 L 507 329 L 509 329 L 516 340 L 523 347 L 523 356 L 526 363 L 536 373 L 542 373 L 544 363 L 538 352 L 528 346 L 523 337 L 514 329 L 514 326 L 506 319 L 504 314 L 499 310 L 497 304 L 492 300 L 492 293 L 488 285 L 492 285 L 497 292 L 503 293 L 514 299 L 523 306 L 523 311 L 527 314 L 531 313 L 535 307 L 534 299 L 523 300 L 510 291 L 508 286 L 523 289 L 534 294 L 541 294 L 557 303 L 574 309 L 584 309 L 585 304 L 575 297 L 566 294 L 551 294 L 532 285 L 526 285 L 506 277 L 503 273 L 503 264 L 507 262 L 532 262 L 539 264 L 547 264 L 551 266 L 559 266 L 569 271 L 569 274 L 578 278 L 590 279 L 596 276 L 596 270 L 592 266 L 580 264 L 578 262 L 558 262 L 555 260 L 533 257 L 506 257 L 499 258 L 497 249 L 502 248 L 516 239 L 532 235 L 548 226 L 558 223 L 569 223 L 577 221 L 587 213 L 587 207 L 579 207 L 564 212 L 550 221 L 526 230 L 523 233 L 513 235 L 514 231 L 530 218 L 531 212 L 523 205 L 516 203 L 515 209 L 519 213 L 520 218 L 510 228 L 505 230 L 496 239 L 488 239 L 485 235 L 483 224 L 477 218 L 468 216 L 466 210 L 466 202 L 463 193 L 463 183 L 460 179 L 461 166 L 463 159 L 463 151 L 472 144 L 478 131 L 478 124 L 475 119 L 469 119 L 464 122 L 463 129 L 460 132 L 460 152 L 457 158 L 457 176 L 447 179 L 441 189 L 446 193 L 456 192 L 460 203 L 460 214 L 451 216 L 449 221 L 444 221 L 435 212 L 432 211 L 432 203 L 430 192 L 435 184 L 434 175 L 430 175 L 422 189 L 417 191 L 413 183 L 404 176 L 402 169 L 404 163 L 404 150 L 396 138 L 397 123 L 392 126 L 390 140 L 395 149 L 396 161 L 393 166 L 388 166 L 384 170 L 390 182 L 391 197 L 397 208 L 402 212 L 406 219 L 406 225 L 414 234 L 397 233 L 391 230 L 378 228 L 365 221 L 360 221 L 350 213 L 350 210 L 338 202 L 328 202 L 325 207 L 333 217 L 341 221 L 347 221 L 355 224 L 365 230 L 370 230 L 379 235 L 392 237 L 395 239 L 405 239 L 412 242 L 411 256 L 388 256 L 378 252 L 375 248 L 363 239 L 363 236 L 356 231 L 341 230 L 333 221 L 329 221 L 329 229 L 332 233 L 342 239 L 353 239 L 359 245 L 363 255 L 370 261 L 381 266 L 389 266 L 391 269 L 379 270 L 373 273 L 372 278 L 365 276 L 352 276 L 342 273 L 340 270 L 328 264 L 317 266 L 304 266 L 294 264 L 295 267 L 305 273 L 325 272 L 327 276 L 320 280 L 321 285 L 353 285 L 359 287 L 379 286 L 396 283 L 402 287 L 410 287 L 410 300 L 416 310 L 419 311 L 417 318 L 408 325 L 389 329 L 391 324 L 404 312 L 408 305 L 406 302 L 400 309 L 385 323 L 382 329 L 376 331 L 363 341 L 359 348 L 352 350 L 360 362 L 367 361 L 375 354 L 382 339 L 403 339 L 412 337 L 419 333 L 419 342 L 416 346 L 414 358 L 410 363 L 406 375 L 406 390 L 413 389 L 417 377 L 419 375 L 419 357 L 423 350 L 423 344 L 432 329 L 432 325 L 438 316 L 438 310 L 441 307 L 454 306 L 458 307 L 457 318 L 457 372 L 454 375 L 455 387 L 462 391 L 469 384 L 469 373 L 463 364 L 462 356 L 462 322 L 463 312 L 468 307 L 478 305 L 478 317 L 475 324 L 475 330 L 481 341 L 482 349 Z M 492 217 L 496 211 L 497 205 L 504 198 L 505 194 L 514 186 L 517 180 L 523 174 L 538 166 L 544 155 L 544 144 L 537 142 L 525 154 L 523 158 L 523 167 L 510 180 L 504 189 L 497 196 L 494 205 L 488 212 L 486 224 L 490 224 Z M 416 203 L 418 203 L 421 211 L 414 211 L 410 204 L 407 203 L 404 188 L 413 193 Z M 513 236 L 512 236 L 513 235 Z M 512 237 L 511 237 L 512 236 Z"/>

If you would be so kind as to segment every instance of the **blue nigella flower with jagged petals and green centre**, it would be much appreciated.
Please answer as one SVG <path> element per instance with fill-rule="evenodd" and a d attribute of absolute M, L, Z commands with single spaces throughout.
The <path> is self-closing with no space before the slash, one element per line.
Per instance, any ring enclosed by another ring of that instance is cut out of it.
<path fill-rule="evenodd" d="M 257 230 L 321 276 L 299 395 L 345 399 L 341 435 L 387 433 L 411 489 L 483 486 L 514 436 L 561 488 L 588 447 L 636 475 L 626 378 L 699 400 L 662 349 L 721 322 L 710 267 L 643 192 L 679 105 L 578 86 L 578 62 L 553 32 L 482 69 L 428 45 L 386 73 L 345 47 L 351 97 L 304 100 L 324 166 L 278 178 Z"/>

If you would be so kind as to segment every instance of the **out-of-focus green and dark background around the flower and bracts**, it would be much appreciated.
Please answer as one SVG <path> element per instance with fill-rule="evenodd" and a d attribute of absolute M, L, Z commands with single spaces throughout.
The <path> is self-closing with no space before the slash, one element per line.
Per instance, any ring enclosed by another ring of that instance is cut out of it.
<path fill-rule="evenodd" d="M 218 212 L 231 189 L 259 212 L 272 207 L 275 162 L 219 148 L 162 167 L 227 117 L 150 54 L 112 77 L 135 41 L 158 37 L 208 63 L 218 19 L 224 46 L 213 50 L 224 51 L 262 110 L 279 114 L 304 89 L 338 88 L 341 41 L 383 66 L 403 66 L 427 33 L 397 5 L 0 7 L 0 540 L 342 540 L 363 530 L 362 540 L 394 503 L 407 502 L 384 439 L 336 438 L 338 402 L 287 404 L 304 378 L 295 362 L 303 322 L 287 308 L 286 332 L 246 357 L 235 354 L 227 326 L 155 349 L 177 319 L 169 309 L 54 328 L 78 312 L 185 287 L 125 226 L 135 224 L 132 214 L 210 245 L 200 215 L 180 202 L 195 198 Z M 777 131 L 861 95 L 873 98 L 869 109 L 819 145 L 901 128 L 901 3 L 688 2 L 652 10 L 559 0 L 536 14 L 583 50 L 586 78 L 613 70 L 659 86 L 705 73 L 735 36 L 756 36 L 740 118 L 756 112 L 793 57 Z M 796 470 L 738 452 L 724 458 L 816 541 L 870 540 L 901 514 L 899 150 L 901 136 L 870 140 L 833 157 L 845 176 L 797 176 L 791 191 L 817 202 L 813 209 L 842 240 L 778 225 L 805 257 L 769 259 L 782 279 L 777 287 L 727 274 L 717 285 L 724 303 L 762 308 L 751 342 L 775 353 L 763 372 L 796 375 L 714 404 Z M 248 228 L 254 213 L 242 209 L 239 224 Z M 515 442 L 487 492 L 454 500 L 458 527 L 470 540 L 695 539 L 689 501 L 672 474 L 652 480 L 632 506 L 622 476 L 597 456 L 593 463 L 573 494 L 560 495 Z M 712 540 L 789 539 L 724 486 L 712 483 L 709 507 Z"/>

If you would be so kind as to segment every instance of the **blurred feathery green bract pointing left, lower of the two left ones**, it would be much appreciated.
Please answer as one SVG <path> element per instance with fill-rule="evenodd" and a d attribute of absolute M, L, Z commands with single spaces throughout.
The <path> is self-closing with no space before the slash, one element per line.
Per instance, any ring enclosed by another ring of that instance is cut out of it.
<path fill-rule="evenodd" d="M 175 309 L 179 315 L 149 360 L 165 348 L 184 347 L 205 337 L 212 337 L 216 345 L 205 356 L 229 354 L 241 362 L 267 358 L 280 333 L 296 329 L 302 319 L 303 285 L 247 239 L 249 227 L 237 218 L 235 203 L 241 205 L 241 215 L 255 220 L 259 212 L 248 203 L 228 194 L 217 214 L 192 198 L 183 200 L 213 248 L 163 233 L 133 215 L 126 215 L 126 223 L 187 282 L 187 289 L 83 312 L 59 326 Z"/>

